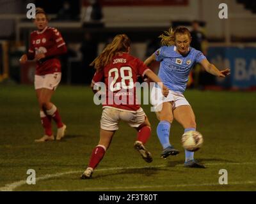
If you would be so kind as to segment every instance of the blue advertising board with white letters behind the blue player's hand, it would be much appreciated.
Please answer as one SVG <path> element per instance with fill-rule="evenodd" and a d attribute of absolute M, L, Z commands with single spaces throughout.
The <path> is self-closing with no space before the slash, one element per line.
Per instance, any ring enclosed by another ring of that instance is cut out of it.
<path fill-rule="evenodd" d="M 230 77 L 218 78 L 219 85 L 239 89 L 256 86 L 256 48 L 210 47 L 207 59 L 218 69 L 231 69 Z"/>

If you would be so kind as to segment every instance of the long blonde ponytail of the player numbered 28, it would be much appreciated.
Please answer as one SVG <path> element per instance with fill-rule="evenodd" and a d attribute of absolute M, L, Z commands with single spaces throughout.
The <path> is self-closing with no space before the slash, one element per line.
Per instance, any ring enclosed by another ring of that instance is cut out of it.
<path fill-rule="evenodd" d="M 130 46 L 131 40 L 128 36 L 126 34 L 118 34 L 113 39 L 112 43 L 109 43 L 102 53 L 93 60 L 90 66 L 94 66 L 98 72 L 102 71 L 104 66 L 111 62 L 116 53 L 127 52 Z"/>

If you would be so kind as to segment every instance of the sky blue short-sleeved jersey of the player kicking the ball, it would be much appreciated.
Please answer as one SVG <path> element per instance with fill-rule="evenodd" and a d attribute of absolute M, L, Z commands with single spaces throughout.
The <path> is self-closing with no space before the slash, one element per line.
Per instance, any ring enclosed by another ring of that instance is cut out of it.
<path fill-rule="evenodd" d="M 163 46 L 156 50 L 156 61 L 160 61 L 159 78 L 172 91 L 183 94 L 186 90 L 189 72 L 195 63 L 206 59 L 202 52 L 189 47 L 186 56 L 176 52 L 175 46 Z"/>

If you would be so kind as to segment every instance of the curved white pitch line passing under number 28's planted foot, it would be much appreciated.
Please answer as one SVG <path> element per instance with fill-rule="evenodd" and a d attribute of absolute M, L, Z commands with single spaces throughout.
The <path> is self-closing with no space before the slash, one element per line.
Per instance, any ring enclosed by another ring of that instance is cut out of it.
<path fill-rule="evenodd" d="M 256 164 L 256 163 L 207 163 L 205 164 L 206 166 L 214 166 L 214 165 L 236 165 L 236 164 L 242 164 L 242 165 L 250 165 L 250 164 Z M 177 164 L 175 166 L 183 166 L 183 164 Z M 164 167 L 170 167 L 166 165 L 158 165 L 158 166 L 133 166 L 133 167 L 118 167 L 118 168 L 103 168 L 95 171 L 112 171 L 112 170 L 132 170 L 132 169 L 141 169 L 141 168 L 164 168 Z M 67 175 L 67 174 L 72 174 L 72 173 L 81 173 L 80 171 L 66 171 L 63 173 L 54 173 L 54 174 L 47 174 L 42 177 L 37 177 L 36 182 L 38 180 L 46 180 L 46 179 L 51 179 L 54 177 L 61 177 L 62 175 Z M 13 182 L 11 184 L 6 184 L 4 187 L 0 187 L 0 191 L 13 191 L 17 187 L 20 187 L 24 184 L 27 184 L 26 180 L 20 180 L 18 182 Z"/>

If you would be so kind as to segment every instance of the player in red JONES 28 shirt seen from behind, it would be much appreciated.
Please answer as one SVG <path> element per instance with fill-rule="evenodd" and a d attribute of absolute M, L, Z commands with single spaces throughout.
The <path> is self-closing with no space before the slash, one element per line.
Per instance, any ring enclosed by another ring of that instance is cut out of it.
<path fill-rule="evenodd" d="M 106 84 L 106 92 L 104 92 L 106 103 L 103 103 L 100 120 L 99 144 L 93 149 L 88 168 L 81 175 L 81 179 L 92 177 L 93 170 L 104 157 L 120 120 L 124 120 L 132 128 L 136 128 L 138 136 L 134 148 L 140 152 L 147 163 L 152 162 L 150 152 L 143 145 L 151 134 L 150 123 L 143 109 L 138 103 L 135 103 L 136 87 L 134 83 L 137 81 L 138 75 L 146 75 L 159 84 L 165 96 L 168 94 L 168 89 L 143 62 L 129 55 L 130 46 L 131 41 L 127 35 L 118 34 L 91 63 L 91 66 L 97 70 L 92 80 L 92 88 L 99 82 Z"/>

